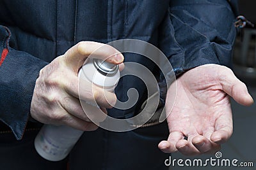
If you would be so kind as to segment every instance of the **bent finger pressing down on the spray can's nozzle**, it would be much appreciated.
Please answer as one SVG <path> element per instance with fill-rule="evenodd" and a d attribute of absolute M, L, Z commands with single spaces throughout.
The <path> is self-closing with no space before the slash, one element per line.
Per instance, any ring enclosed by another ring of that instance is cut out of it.
<path fill-rule="evenodd" d="M 120 64 L 124 60 L 122 53 L 118 52 L 113 46 L 97 43 L 93 41 L 81 41 L 72 46 L 63 55 L 65 64 L 78 72 L 87 57 L 106 60 L 113 64 Z"/>

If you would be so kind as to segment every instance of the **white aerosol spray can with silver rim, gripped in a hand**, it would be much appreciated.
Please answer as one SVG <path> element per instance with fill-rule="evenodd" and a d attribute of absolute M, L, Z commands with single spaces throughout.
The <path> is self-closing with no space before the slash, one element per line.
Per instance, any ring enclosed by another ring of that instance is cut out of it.
<path fill-rule="evenodd" d="M 120 78 L 118 66 L 100 59 L 87 59 L 79 77 L 94 85 L 113 91 Z M 83 131 L 65 125 L 45 124 L 35 138 L 36 152 L 44 159 L 59 161 L 67 157 Z"/>

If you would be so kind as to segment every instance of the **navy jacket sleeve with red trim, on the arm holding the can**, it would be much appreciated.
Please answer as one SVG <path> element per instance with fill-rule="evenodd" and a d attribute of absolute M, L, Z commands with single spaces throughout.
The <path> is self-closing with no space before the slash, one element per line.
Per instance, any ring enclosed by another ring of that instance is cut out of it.
<path fill-rule="evenodd" d="M 9 46 L 11 32 L 0 25 L 0 120 L 21 139 L 29 119 L 35 81 L 47 62 Z"/>

